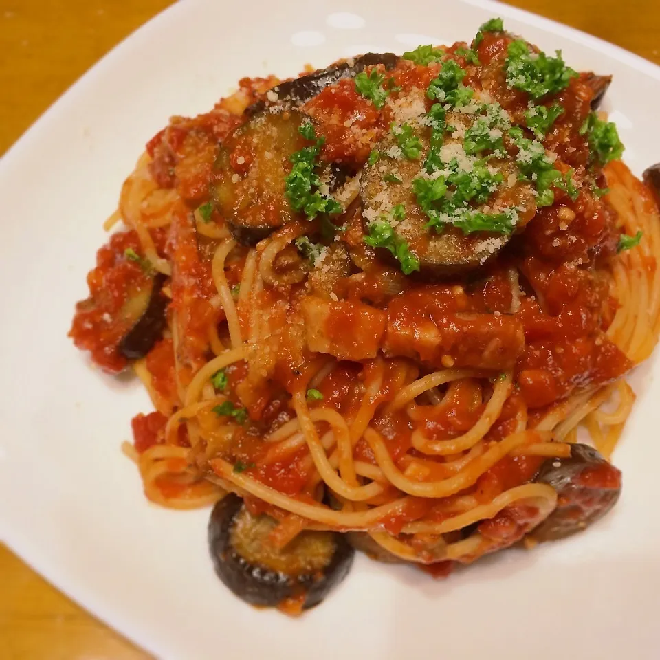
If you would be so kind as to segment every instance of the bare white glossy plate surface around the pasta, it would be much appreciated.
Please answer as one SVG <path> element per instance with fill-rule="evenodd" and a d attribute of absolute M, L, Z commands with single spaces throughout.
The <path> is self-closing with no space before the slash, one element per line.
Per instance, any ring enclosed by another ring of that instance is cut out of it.
<path fill-rule="evenodd" d="M 632 9 L 632 7 L 631 7 Z M 588 533 L 509 551 L 434 582 L 358 558 L 292 620 L 214 577 L 208 511 L 144 500 L 120 453 L 142 388 L 90 369 L 66 333 L 122 180 L 172 114 L 210 108 L 245 75 L 367 50 L 470 39 L 502 16 L 576 69 L 614 74 L 608 109 L 636 173 L 660 160 L 660 68 L 489 1 L 188 1 L 148 23 L 63 96 L 0 163 L 0 533 L 45 577 L 161 657 L 657 660 L 660 384 L 654 359 L 615 462 L 624 492 Z M 656 356 L 657 357 L 657 356 Z M 1 655 L 1 652 L 0 652 Z"/>

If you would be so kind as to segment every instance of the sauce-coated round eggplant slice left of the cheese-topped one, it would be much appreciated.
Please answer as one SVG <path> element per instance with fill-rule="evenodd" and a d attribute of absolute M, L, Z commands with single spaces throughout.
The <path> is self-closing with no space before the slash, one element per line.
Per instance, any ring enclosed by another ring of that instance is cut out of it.
<path fill-rule="evenodd" d="M 211 197 L 243 245 L 256 245 L 294 214 L 285 197 L 289 156 L 309 146 L 298 128 L 309 118 L 297 110 L 265 111 L 223 142 Z"/>

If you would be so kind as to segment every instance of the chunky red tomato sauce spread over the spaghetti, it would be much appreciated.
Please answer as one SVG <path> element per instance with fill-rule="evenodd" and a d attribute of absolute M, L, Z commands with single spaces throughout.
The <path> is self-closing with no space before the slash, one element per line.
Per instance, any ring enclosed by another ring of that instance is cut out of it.
<path fill-rule="evenodd" d="M 476 49 L 480 65 L 468 61 L 465 55 L 457 56 L 457 60 L 467 72 L 465 85 L 473 87 L 481 98 L 489 97 L 501 104 L 514 123 L 525 125 L 528 96 L 510 89 L 503 72 L 510 42 L 509 36 L 486 32 Z M 456 43 L 447 51 L 461 52 L 459 49 L 465 46 Z M 390 130 L 396 119 L 394 102 L 419 92 L 426 110 L 430 108 L 432 101 L 424 91 L 439 73 L 439 63 L 421 66 L 400 61 L 390 71 L 382 65 L 376 69 L 384 74 L 386 89 L 391 90 L 390 102 L 382 108 L 362 96 L 352 79 L 323 89 L 301 108 L 313 118 L 316 135 L 325 139 L 321 162 L 341 164 L 355 173 Z M 174 118 L 146 145 L 153 179 L 161 188 L 175 189 L 184 202 L 175 210 L 170 227 L 151 231 L 157 252 L 166 256 L 173 267 L 168 281 L 172 296 L 168 314 L 177 336 L 176 349 L 173 338 L 167 336 L 146 358 L 151 385 L 167 412 L 181 405 L 179 386 L 185 387 L 212 358 L 210 330 L 217 329 L 224 319 L 223 312 L 211 304 L 217 292 L 210 256 L 217 241 L 199 236 L 191 211 L 209 199 L 210 181 L 220 176 L 214 172 L 219 144 L 248 120 L 243 115 L 245 107 L 263 100 L 275 83 L 275 78 L 245 78 L 239 83 L 239 93 L 221 100 L 210 113 L 191 119 Z M 590 166 L 588 141 L 580 135 L 580 127 L 590 112 L 592 97 L 593 89 L 580 76 L 551 99 L 563 112 L 545 135 L 543 145 L 556 156 L 555 167 L 562 175 L 572 169 L 582 177 Z M 238 144 L 229 155 L 230 165 L 242 176 L 258 156 Z M 602 176 L 595 173 L 595 177 L 602 183 Z M 617 248 L 620 230 L 616 213 L 606 199 L 597 198 L 584 187 L 575 199 L 559 189 L 554 194 L 552 206 L 536 210 L 534 204 L 536 214 L 524 232 L 514 235 L 496 259 L 467 274 L 445 277 L 443 283 L 423 282 L 417 276 L 403 278 L 398 270 L 393 274 L 390 262 L 381 262 L 380 257 L 365 249 L 362 209 L 349 214 L 338 240 L 350 255 L 347 272 L 351 274 L 339 278 L 331 294 L 319 294 L 320 302 L 309 315 L 311 320 L 322 316 L 319 325 L 334 352 L 320 352 L 324 357 L 337 358 L 337 364 L 315 385 L 322 403 L 310 401 L 309 407 L 322 405 L 353 419 L 364 400 L 366 384 L 378 368 L 376 356 L 388 364 L 388 374 L 395 373 L 392 365 L 396 362 L 400 367 L 397 373 L 405 373 L 406 382 L 410 382 L 410 373 L 415 369 L 415 373 L 422 374 L 452 367 L 487 369 L 493 379 L 500 371 L 511 371 L 514 387 L 485 438 L 491 442 L 514 432 L 527 409 L 531 419 L 536 420 L 549 406 L 577 389 L 611 382 L 628 371 L 632 363 L 606 337 L 618 305 L 610 296 L 604 272 Z M 266 205 L 263 210 L 266 216 L 280 212 L 279 203 L 272 208 Z M 221 223 L 219 212 L 213 213 L 212 221 Z M 316 232 L 318 224 L 309 227 Z M 310 230 L 310 234 L 314 232 Z M 122 309 L 131 295 L 149 285 L 140 264 L 126 258 L 129 249 L 142 254 L 133 231 L 113 234 L 99 250 L 96 267 L 88 276 L 89 298 L 78 303 L 70 333 L 76 346 L 90 351 L 94 362 L 111 373 L 118 373 L 127 364 L 118 351 L 129 329 Z M 299 262 L 294 246 L 289 249 Z M 241 256 L 226 270 L 230 286 L 241 281 L 248 250 L 240 250 Z M 263 243 L 258 250 L 263 251 Z M 649 262 L 648 267 L 654 269 L 657 265 Z M 355 276 L 356 270 L 361 271 L 362 278 Z M 311 374 L 320 369 L 305 344 L 311 326 L 299 309 L 303 306 L 300 300 L 311 298 L 305 284 L 265 287 L 259 306 L 271 312 L 270 336 L 258 348 L 266 348 L 262 354 L 250 355 L 248 361 L 227 369 L 229 386 L 225 393 L 235 406 L 243 406 L 250 418 L 237 432 L 228 454 L 243 462 L 245 474 L 300 498 L 308 496 L 305 488 L 314 472 L 307 448 L 281 461 L 264 463 L 267 448 L 263 446 L 263 435 L 294 416 L 290 393 L 306 387 Z M 338 295 L 344 294 L 348 294 L 348 300 L 338 300 Z M 322 315 L 317 313 L 319 310 Z M 249 320 L 243 313 L 243 327 Z M 259 372 L 260 376 L 252 377 L 249 371 Z M 395 397 L 403 382 L 388 381 L 389 377 L 383 378 L 380 403 Z M 406 469 L 406 461 L 412 456 L 431 464 L 429 478 L 447 478 L 449 468 L 443 463 L 448 459 L 416 452 L 412 449 L 412 434 L 419 431 L 436 441 L 467 432 L 483 415 L 493 386 L 494 382 L 483 377 L 464 379 L 439 392 L 441 404 L 429 406 L 412 401 L 410 406 L 419 413 L 414 422 L 405 411 L 385 412 L 379 408 L 371 423 L 382 434 L 399 470 Z M 133 419 L 139 452 L 161 441 L 165 421 L 162 412 Z M 181 439 L 181 443 L 186 441 Z M 377 464 L 364 439 L 355 443 L 353 456 Z M 479 503 L 490 502 L 506 489 L 531 480 L 543 460 L 537 456 L 507 456 L 459 496 L 470 494 Z M 594 483 L 610 477 L 584 476 Z M 254 504 L 254 500 L 248 501 Z M 382 527 L 397 534 L 406 522 L 423 516 L 443 520 L 451 515 L 445 505 L 436 508 L 431 500 L 409 498 L 403 510 L 382 521 Z M 485 541 L 479 553 L 518 540 L 536 514 L 533 507 L 515 505 L 483 522 L 479 532 Z M 445 575 L 451 566 L 451 562 L 439 562 L 428 570 Z"/>

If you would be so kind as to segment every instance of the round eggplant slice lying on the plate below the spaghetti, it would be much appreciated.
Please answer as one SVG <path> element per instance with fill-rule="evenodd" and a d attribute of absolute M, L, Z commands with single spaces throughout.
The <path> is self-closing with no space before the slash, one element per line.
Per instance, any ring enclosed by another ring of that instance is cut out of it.
<path fill-rule="evenodd" d="M 277 549 L 268 542 L 276 525 L 269 516 L 252 516 L 239 496 L 225 496 L 208 525 L 215 571 L 251 605 L 276 607 L 303 598 L 303 609 L 314 607 L 348 575 L 353 548 L 340 533 L 306 531 Z"/>

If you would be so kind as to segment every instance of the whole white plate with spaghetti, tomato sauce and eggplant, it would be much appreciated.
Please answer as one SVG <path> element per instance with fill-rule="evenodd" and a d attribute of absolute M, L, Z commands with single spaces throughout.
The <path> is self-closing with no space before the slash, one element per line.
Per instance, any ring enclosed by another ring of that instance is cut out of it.
<path fill-rule="evenodd" d="M 239 42 L 206 28 L 221 8 L 183 3 L 8 157 L 3 184 L 39 178 L 49 126 L 103 80 L 153 80 L 155 63 L 127 71 L 140 53 L 171 65 L 127 137 L 113 100 L 60 155 L 84 189 L 64 167 L 44 196 L 59 186 L 50 217 L 76 222 L 51 236 L 28 211 L 5 243 L 43 264 L 21 300 L 52 300 L 17 312 L 47 338 L 8 356 L 32 380 L 7 411 L 0 520 L 148 648 L 522 658 L 544 634 L 540 658 L 657 657 L 660 140 L 639 98 L 660 100 L 660 73 L 496 6 L 452 3 L 444 39 L 395 3 L 287 8 L 300 29 L 250 17 L 250 53 L 226 63 Z M 195 47 L 164 54 L 181 28 Z M 258 64 L 259 35 L 289 46 Z M 107 179 L 85 173 L 106 156 Z"/>

